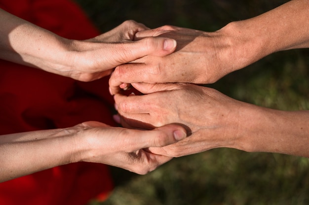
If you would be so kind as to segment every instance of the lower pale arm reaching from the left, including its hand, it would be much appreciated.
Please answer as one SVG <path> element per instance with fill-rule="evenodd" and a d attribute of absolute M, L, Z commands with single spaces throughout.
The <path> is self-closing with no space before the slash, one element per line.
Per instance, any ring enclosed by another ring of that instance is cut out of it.
<path fill-rule="evenodd" d="M 143 148 L 165 146 L 186 137 L 186 130 L 167 125 L 152 131 L 85 122 L 66 129 L 0 136 L 0 182 L 74 162 L 94 162 L 139 174 L 153 171 L 171 157 Z"/>

